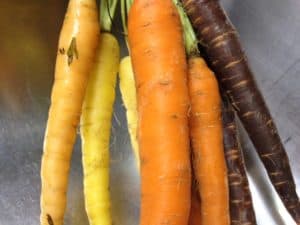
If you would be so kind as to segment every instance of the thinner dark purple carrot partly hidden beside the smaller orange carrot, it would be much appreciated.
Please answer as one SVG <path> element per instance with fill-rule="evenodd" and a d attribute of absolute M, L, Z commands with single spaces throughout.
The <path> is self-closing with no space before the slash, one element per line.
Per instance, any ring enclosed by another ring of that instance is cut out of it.
<path fill-rule="evenodd" d="M 240 149 L 235 113 L 226 97 L 223 98 L 224 152 L 227 164 L 231 225 L 255 225 L 255 213 Z"/>

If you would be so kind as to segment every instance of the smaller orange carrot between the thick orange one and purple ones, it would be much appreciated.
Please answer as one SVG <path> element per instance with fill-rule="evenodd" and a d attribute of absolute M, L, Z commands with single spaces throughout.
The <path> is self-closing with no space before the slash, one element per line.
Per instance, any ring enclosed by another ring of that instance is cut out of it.
<path fill-rule="evenodd" d="M 202 225 L 229 225 L 221 99 L 214 74 L 200 57 L 189 59 L 190 129 Z"/>

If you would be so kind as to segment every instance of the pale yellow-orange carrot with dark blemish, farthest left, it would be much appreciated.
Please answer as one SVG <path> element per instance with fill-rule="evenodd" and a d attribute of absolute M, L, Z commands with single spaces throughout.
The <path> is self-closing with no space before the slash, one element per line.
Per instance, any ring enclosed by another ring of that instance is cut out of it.
<path fill-rule="evenodd" d="M 70 0 L 60 33 L 41 165 L 41 225 L 62 225 L 70 158 L 99 40 L 96 2 Z"/>

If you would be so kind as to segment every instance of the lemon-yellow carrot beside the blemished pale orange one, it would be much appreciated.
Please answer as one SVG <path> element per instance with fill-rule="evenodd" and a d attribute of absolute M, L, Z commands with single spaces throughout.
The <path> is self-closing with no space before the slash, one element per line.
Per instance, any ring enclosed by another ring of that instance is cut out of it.
<path fill-rule="evenodd" d="M 109 143 L 120 60 L 118 41 L 101 33 L 81 116 L 85 208 L 91 225 L 111 225 Z"/>

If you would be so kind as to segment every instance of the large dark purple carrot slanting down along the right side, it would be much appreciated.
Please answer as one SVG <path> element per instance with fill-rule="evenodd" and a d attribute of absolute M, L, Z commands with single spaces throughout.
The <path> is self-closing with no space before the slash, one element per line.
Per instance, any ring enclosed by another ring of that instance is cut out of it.
<path fill-rule="evenodd" d="M 248 132 L 274 188 L 294 220 L 300 224 L 300 201 L 289 159 L 236 30 L 219 1 L 182 2 L 208 61 Z"/>

